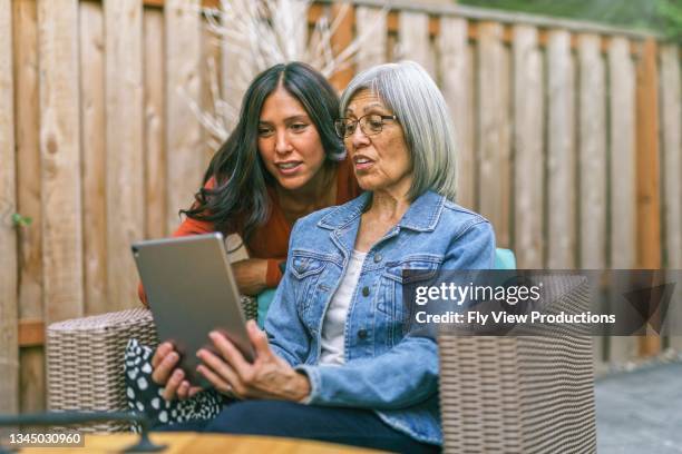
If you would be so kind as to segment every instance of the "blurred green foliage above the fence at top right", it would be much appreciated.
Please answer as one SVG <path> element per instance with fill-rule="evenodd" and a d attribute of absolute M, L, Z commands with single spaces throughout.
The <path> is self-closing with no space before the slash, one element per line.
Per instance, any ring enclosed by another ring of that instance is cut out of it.
<path fill-rule="evenodd" d="M 457 0 L 461 4 L 655 31 L 682 42 L 680 0 Z"/>

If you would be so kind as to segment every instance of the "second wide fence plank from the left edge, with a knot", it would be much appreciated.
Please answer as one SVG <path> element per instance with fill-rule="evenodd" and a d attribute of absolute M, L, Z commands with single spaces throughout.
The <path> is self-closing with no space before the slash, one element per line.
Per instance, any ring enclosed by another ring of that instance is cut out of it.
<path fill-rule="evenodd" d="M 84 314 L 78 2 L 38 2 L 46 324 Z"/>

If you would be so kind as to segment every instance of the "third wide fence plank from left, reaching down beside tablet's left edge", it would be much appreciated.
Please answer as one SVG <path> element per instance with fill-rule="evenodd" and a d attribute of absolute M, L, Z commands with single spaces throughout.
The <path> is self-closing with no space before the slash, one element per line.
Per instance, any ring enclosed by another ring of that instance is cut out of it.
<path fill-rule="evenodd" d="M 140 0 L 104 2 L 106 30 L 107 286 L 109 309 L 137 304 L 130 244 L 144 237 Z M 89 152 L 89 150 L 85 150 Z"/>

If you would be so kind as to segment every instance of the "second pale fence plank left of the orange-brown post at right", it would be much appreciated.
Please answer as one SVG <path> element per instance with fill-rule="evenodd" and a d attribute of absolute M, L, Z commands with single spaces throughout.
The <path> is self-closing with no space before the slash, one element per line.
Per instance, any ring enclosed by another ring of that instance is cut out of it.
<path fill-rule="evenodd" d="M 578 37 L 579 257 L 582 268 L 606 265 L 606 92 L 601 38 Z"/>

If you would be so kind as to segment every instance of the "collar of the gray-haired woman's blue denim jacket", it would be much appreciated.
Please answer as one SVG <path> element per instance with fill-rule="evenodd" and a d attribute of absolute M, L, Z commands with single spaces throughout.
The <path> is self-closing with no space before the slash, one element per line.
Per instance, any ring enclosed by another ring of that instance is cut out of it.
<path fill-rule="evenodd" d="M 371 193 L 362 193 L 358 198 L 333 208 L 318 223 L 319 227 L 337 230 L 360 217 L 371 199 Z M 398 227 L 416 231 L 432 231 L 438 225 L 446 198 L 433 191 L 426 191 L 410 205 L 398 223 Z"/>

